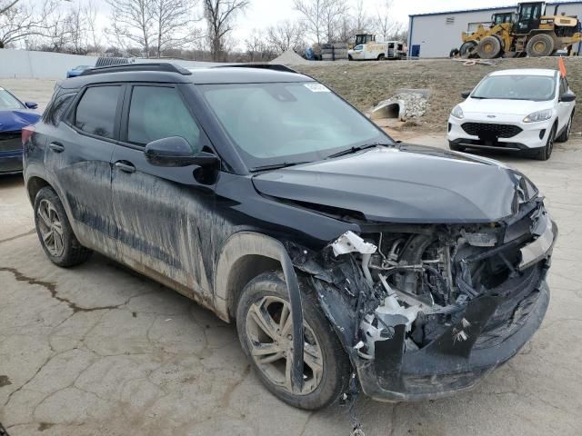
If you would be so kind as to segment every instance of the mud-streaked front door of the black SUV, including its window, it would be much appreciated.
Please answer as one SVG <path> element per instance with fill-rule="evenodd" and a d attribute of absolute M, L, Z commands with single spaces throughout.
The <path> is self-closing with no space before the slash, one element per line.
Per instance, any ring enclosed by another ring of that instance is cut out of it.
<path fill-rule="evenodd" d="M 120 260 L 209 302 L 214 185 L 196 180 L 196 165 L 153 164 L 145 154 L 146 144 L 177 137 L 194 155 L 209 150 L 206 135 L 173 84 L 128 85 L 124 100 L 112 159 Z"/>

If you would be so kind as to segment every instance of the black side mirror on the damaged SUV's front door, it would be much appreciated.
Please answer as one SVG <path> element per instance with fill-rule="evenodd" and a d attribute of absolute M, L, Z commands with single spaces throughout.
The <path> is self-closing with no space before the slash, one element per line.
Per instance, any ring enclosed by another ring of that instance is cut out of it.
<path fill-rule="evenodd" d="M 144 153 L 147 162 L 156 166 L 210 166 L 218 163 L 218 157 L 215 154 L 206 152 L 193 154 L 190 144 L 180 136 L 152 141 L 146 144 Z"/>

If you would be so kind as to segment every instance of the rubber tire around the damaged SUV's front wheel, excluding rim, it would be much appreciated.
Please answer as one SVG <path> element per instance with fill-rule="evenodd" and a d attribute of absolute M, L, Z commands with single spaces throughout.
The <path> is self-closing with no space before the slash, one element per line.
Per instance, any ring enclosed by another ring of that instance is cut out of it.
<path fill-rule="evenodd" d="M 246 335 L 246 312 L 251 304 L 267 295 L 279 297 L 288 301 L 288 292 L 283 272 L 264 272 L 243 290 L 236 307 L 236 330 L 246 356 L 251 362 L 258 377 L 277 398 L 299 409 L 314 411 L 324 408 L 336 401 L 339 395 L 346 390 L 349 381 L 351 364 L 349 358 L 337 338 L 326 315 L 322 312 L 316 296 L 307 289 L 305 281 L 299 281 L 303 296 L 303 315 L 306 322 L 316 334 L 317 341 L 323 352 L 324 374 L 316 390 L 306 395 L 294 395 L 279 389 L 266 378 L 266 375 L 257 367 L 248 347 Z"/>

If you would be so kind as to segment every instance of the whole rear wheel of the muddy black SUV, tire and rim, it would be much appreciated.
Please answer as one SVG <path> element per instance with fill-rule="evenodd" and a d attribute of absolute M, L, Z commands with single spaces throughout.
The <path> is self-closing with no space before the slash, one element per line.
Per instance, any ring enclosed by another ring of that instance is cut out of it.
<path fill-rule="evenodd" d="M 52 263 L 74 266 L 91 256 L 93 252 L 76 239 L 63 203 L 52 188 L 45 187 L 36 194 L 34 210 L 36 234 Z"/>

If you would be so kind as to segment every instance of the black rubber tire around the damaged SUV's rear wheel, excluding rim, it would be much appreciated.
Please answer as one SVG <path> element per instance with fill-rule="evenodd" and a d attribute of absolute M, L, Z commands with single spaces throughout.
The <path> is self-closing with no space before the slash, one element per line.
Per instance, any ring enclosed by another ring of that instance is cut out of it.
<path fill-rule="evenodd" d="M 48 252 L 38 228 L 39 218 L 37 211 L 38 206 L 43 199 L 46 199 L 49 202 L 53 203 L 56 209 L 56 213 L 58 214 L 58 217 L 63 225 L 63 239 L 64 239 L 63 242 L 65 250 L 63 254 L 61 254 L 60 256 L 54 256 Z M 45 251 L 46 256 L 51 260 L 52 263 L 55 263 L 55 265 L 62 267 L 75 266 L 80 263 L 84 263 L 91 256 L 91 253 L 93 253 L 93 251 L 89 250 L 88 248 L 85 248 L 76 239 L 75 233 L 73 233 L 71 224 L 69 223 L 68 217 L 66 216 L 63 203 L 61 203 L 61 200 L 59 199 L 58 195 L 55 193 L 53 188 L 45 187 L 36 194 L 34 210 L 35 210 L 36 234 L 38 235 L 38 239 L 43 247 L 43 250 Z"/>

